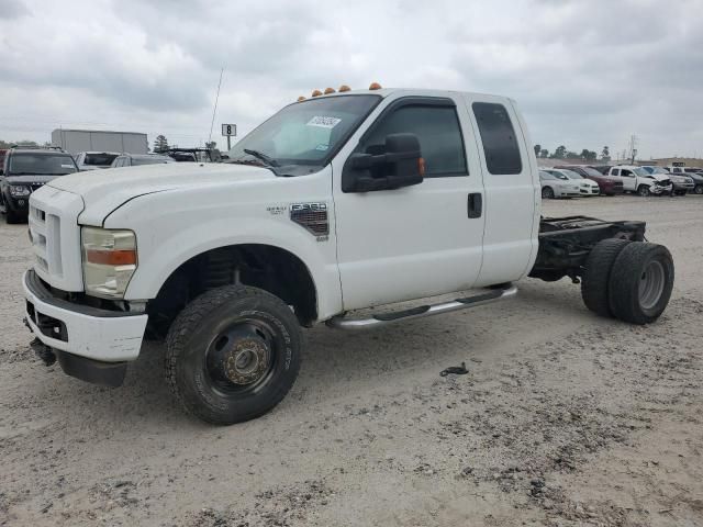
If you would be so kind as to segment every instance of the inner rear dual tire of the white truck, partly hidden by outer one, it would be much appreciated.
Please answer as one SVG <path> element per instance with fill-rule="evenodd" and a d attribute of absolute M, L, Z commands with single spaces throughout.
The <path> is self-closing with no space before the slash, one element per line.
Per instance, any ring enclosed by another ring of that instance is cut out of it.
<path fill-rule="evenodd" d="M 610 307 L 610 279 L 617 256 L 629 239 L 609 238 L 599 242 L 585 260 L 581 277 L 581 298 L 585 306 L 601 316 L 613 316 Z"/>

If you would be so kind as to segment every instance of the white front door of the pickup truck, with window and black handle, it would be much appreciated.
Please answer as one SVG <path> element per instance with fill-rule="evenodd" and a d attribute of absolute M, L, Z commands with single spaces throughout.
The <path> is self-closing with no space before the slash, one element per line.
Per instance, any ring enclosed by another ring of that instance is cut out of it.
<path fill-rule="evenodd" d="M 390 134 L 420 141 L 425 177 L 395 190 L 344 192 L 354 153 Z M 337 260 L 345 310 L 469 289 L 481 269 L 483 182 L 460 96 L 384 99 L 333 161 Z"/>

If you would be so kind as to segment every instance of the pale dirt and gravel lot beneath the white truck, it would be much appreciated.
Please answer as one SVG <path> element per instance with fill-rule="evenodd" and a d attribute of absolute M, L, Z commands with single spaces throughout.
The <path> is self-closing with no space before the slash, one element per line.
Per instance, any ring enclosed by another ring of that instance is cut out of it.
<path fill-rule="evenodd" d="M 41 365 L 26 227 L 1 224 L 0 525 L 703 525 L 703 198 L 545 209 L 647 221 L 677 265 L 661 319 L 598 318 L 565 279 L 373 333 L 319 327 L 283 403 L 228 428 L 172 406 L 156 346 L 116 390 Z"/>

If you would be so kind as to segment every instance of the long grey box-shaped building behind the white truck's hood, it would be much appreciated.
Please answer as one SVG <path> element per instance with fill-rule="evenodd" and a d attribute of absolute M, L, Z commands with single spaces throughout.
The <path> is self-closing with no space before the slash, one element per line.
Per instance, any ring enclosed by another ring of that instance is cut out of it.
<path fill-rule="evenodd" d="M 76 155 L 79 152 L 116 152 L 146 154 L 146 134 L 138 132 L 103 132 L 98 130 L 64 130 L 52 132 L 52 145 Z"/>

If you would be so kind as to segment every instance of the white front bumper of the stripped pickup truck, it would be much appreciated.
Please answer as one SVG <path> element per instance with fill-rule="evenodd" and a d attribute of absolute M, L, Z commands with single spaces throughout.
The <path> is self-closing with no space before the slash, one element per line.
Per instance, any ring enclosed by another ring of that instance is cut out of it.
<path fill-rule="evenodd" d="M 59 299 L 34 270 L 24 273 L 22 287 L 27 325 L 45 346 L 98 362 L 124 362 L 140 355 L 147 315 L 100 310 Z M 62 354 L 57 355 L 60 361 Z"/>

